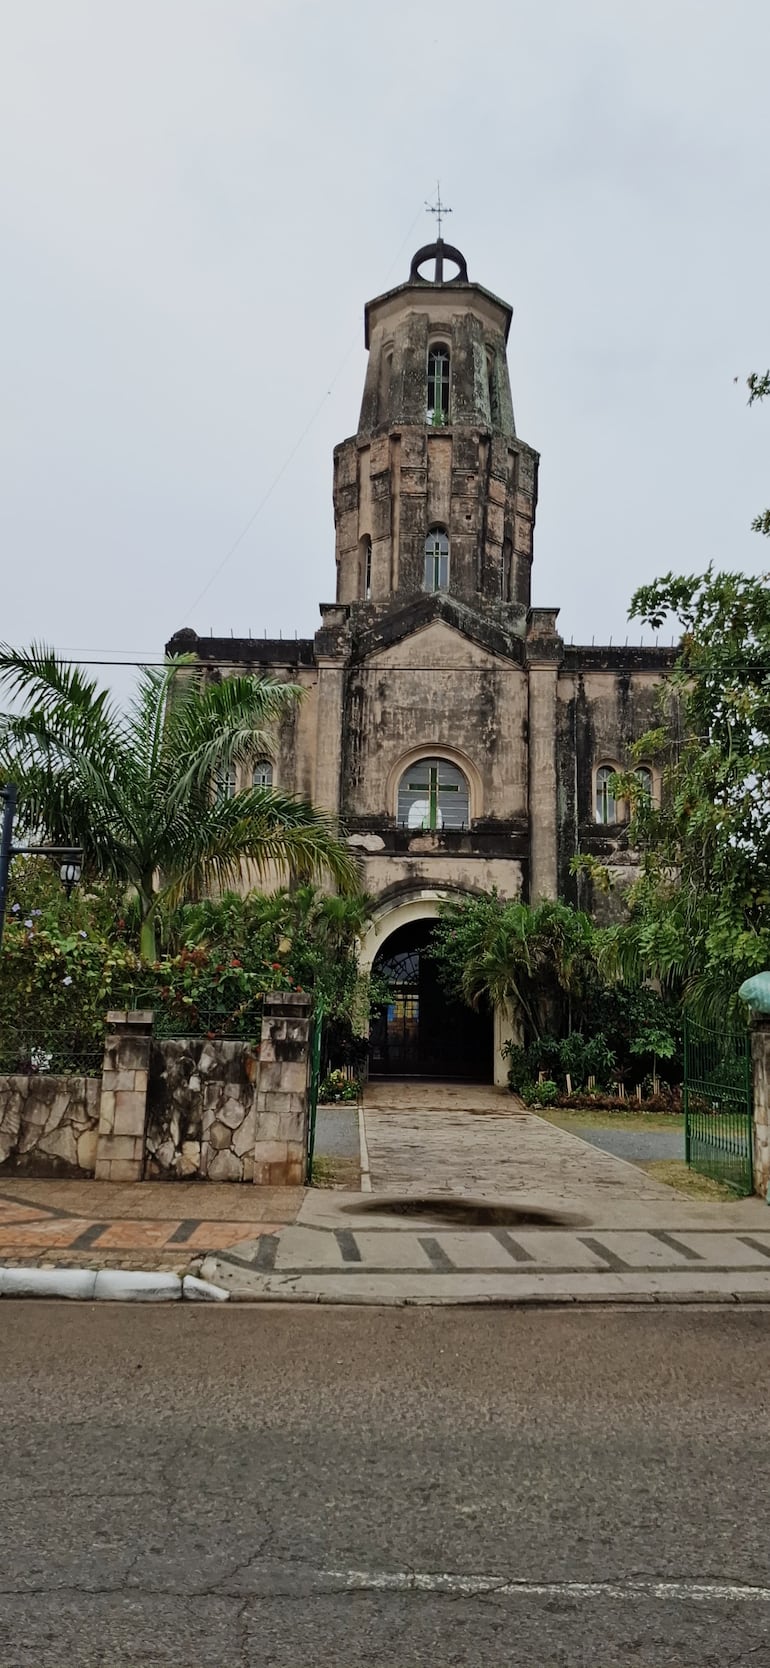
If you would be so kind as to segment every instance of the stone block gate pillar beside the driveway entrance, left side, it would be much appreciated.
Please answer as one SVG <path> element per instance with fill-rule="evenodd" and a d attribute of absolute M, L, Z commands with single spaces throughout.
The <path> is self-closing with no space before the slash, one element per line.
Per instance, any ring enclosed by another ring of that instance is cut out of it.
<path fill-rule="evenodd" d="M 302 1188 L 305 1181 L 310 1026 L 308 996 L 265 996 L 253 1148 L 253 1179 L 262 1186 Z"/>

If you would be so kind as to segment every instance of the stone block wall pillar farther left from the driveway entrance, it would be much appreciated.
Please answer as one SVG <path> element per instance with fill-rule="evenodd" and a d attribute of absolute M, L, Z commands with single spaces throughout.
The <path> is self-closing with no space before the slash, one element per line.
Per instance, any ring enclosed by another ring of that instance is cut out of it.
<path fill-rule="evenodd" d="M 97 1181 L 142 1181 L 150 1044 L 152 1011 L 107 1014 Z"/>

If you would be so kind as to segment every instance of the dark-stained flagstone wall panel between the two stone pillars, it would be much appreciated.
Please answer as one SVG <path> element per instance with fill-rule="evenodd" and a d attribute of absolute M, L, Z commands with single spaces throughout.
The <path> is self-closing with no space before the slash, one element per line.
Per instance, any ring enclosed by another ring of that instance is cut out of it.
<path fill-rule="evenodd" d="M 253 1181 L 257 1049 L 232 1039 L 155 1041 L 150 1051 L 148 1179 Z"/>

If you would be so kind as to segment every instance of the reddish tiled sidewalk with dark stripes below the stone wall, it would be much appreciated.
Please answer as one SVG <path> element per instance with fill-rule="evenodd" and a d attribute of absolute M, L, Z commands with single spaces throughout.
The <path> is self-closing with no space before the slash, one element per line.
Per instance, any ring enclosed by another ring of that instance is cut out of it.
<path fill-rule="evenodd" d="M 182 1268 L 193 1256 L 278 1234 L 302 1188 L 208 1183 L 0 1183 L 0 1263 Z"/>

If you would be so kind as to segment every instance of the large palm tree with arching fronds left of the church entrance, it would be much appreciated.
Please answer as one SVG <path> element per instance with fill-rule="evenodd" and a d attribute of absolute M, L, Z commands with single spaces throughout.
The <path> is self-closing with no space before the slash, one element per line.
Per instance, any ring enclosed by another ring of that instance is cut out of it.
<path fill-rule="evenodd" d="M 0 649 L 0 686 L 20 712 L 0 719 L 0 772 L 18 786 L 20 819 L 52 842 L 83 847 L 87 876 L 108 876 L 140 904 L 140 951 L 157 957 L 157 912 L 208 887 L 278 866 L 358 871 L 333 821 L 273 787 L 230 792 L 238 766 L 270 757 L 270 729 L 300 699 L 268 677 L 210 681 L 192 656 L 143 667 L 127 712 L 52 649 Z M 217 791 L 218 784 L 218 791 Z"/>

